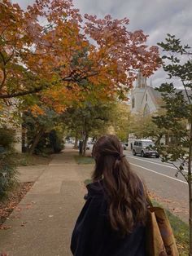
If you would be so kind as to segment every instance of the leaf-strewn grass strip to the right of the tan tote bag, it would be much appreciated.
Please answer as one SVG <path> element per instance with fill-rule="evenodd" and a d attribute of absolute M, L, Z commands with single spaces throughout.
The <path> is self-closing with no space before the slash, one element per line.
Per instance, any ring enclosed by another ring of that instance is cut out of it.
<path fill-rule="evenodd" d="M 153 205 L 163 207 L 159 205 L 159 202 L 152 200 Z M 164 207 L 163 207 L 164 208 Z M 177 248 L 180 256 L 189 255 L 189 226 L 184 223 L 181 218 L 172 214 L 169 210 L 166 210 L 169 222 L 172 226 L 172 232 L 174 233 L 177 241 Z"/>

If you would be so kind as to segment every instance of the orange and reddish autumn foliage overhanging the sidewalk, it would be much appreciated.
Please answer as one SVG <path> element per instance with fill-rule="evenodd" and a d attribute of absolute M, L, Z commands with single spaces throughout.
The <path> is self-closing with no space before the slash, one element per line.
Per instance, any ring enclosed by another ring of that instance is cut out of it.
<path fill-rule="evenodd" d="M 41 92 L 41 100 L 63 111 L 73 101 L 124 96 L 140 68 L 158 68 L 156 46 L 129 20 L 80 14 L 70 0 L 37 0 L 27 11 L 0 3 L 0 99 Z"/>

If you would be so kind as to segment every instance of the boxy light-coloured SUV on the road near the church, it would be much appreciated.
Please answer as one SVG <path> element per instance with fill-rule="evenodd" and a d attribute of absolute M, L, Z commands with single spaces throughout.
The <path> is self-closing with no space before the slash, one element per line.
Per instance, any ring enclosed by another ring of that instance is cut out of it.
<path fill-rule="evenodd" d="M 137 139 L 133 143 L 133 156 L 137 154 L 142 157 L 159 158 L 159 153 L 155 149 L 155 143 L 150 139 Z"/>

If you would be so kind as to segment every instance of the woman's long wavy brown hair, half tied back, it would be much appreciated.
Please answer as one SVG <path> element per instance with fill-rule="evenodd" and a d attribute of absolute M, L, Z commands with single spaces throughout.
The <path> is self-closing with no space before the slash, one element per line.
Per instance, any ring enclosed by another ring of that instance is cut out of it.
<path fill-rule="evenodd" d="M 141 179 L 130 169 L 123 148 L 115 135 L 105 135 L 94 144 L 93 181 L 103 179 L 107 193 L 111 227 L 123 236 L 136 223 L 146 222 L 146 199 Z"/>

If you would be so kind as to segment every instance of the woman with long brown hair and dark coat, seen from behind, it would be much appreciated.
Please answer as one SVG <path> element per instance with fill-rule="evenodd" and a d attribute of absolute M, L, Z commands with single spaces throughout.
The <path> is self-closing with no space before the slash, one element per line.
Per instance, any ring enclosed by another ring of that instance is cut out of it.
<path fill-rule="evenodd" d="M 72 233 L 75 256 L 144 256 L 146 198 L 115 135 L 94 144 L 93 183 Z"/>

